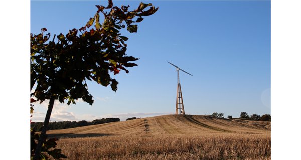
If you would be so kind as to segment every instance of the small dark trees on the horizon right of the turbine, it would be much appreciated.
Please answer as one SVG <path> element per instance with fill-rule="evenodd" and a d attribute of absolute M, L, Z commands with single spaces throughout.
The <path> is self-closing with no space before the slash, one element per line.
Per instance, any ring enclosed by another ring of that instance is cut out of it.
<path fill-rule="evenodd" d="M 217 112 L 214 112 L 213 114 L 211 114 L 209 116 L 217 117 L 217 118 L 224 118 L 223 113 L 217 113 Z M 232 115 L 228 115 L 228 119 L 233 119 Z M 239 119 L 257 120 L 257 121 L 271 121 L 271 115 L 270 114 L 264 114 L 264 115 L 260 116 L 260 115 L 257 115 L 257 114 L 252 114 L 251 116 L 249 116 L 247 112 L 241 112 Z"/>

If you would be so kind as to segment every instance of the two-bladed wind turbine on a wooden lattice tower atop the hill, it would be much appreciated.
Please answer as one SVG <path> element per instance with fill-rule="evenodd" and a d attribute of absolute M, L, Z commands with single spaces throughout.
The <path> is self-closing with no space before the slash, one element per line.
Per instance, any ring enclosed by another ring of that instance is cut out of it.
<path fill-rule="evenodd" d="M 168 63 L 170 63 L 170 62 L 168 62 Z M 176 66 L 176 65 L 174 65 L 174 64 L 172 64 L 172 63 L 170 63 L 171 65 L 173 65 L 174 67 L 176 67 L 177 68 L 177 72 L 178 72 L 178 87 L 177 87 L 177 101 L 176 101 L 176 115 L 177 114 L 185 114 L 185 110 L 184 110 L 184 103 L 183 103 L 183 97 L 182 97 L 182 91 L 181 91 L 181 84 L 180 84 L 180 77 L 179 77 L 179 72 L 180 72 L 180 70 L 181 71 L 183 71 L 183 72 L 185 72 L 186 74 L 188 74 L 188 75 L 191 75 L 191 74 L 189 74 L 188 72 L 186 72 L 186 71 L 184 71 L 184 70 L 182 70 L 182 69 L 180 69 L 178 66 Z M 192 76 L 192 75 L 191 75 Z M 181 111 L 182 110 L 182 111 Z"/>

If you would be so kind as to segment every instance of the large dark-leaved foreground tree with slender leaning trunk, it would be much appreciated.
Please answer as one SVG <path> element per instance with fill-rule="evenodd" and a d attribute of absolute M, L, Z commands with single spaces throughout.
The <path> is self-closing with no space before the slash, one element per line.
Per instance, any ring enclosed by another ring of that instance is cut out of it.
<path fill-rule="evenodd" d="M 103 86 L 110 85 L 117 90 L 117 80 L 110 77 L 120 70 L 128 73 L 126 67 L 137 66 L 132 61 L 138 60 L 126 56 L 125 41 L 119 30 L 126 28 L 130 33 L 137 32 L 137 25 L 143 16 L 154 14 L 158 7 L 152 4 L 140 3 L 133 11 L 129 6 L 113 7 L 109 0 L 108 6 L 99 6 L 94 17 L 90 18 L 84 27 L 69 30 L 69 33 L 54 35 L 50 40 L 50 33 L 46 35 L 46 28 L 38 35 L 30 35 L 31 46 L 31 90 L 37 84 L 31 97 L 40 103 L 49 100 L 48 110 L 42 127 L 41 135 L 35 150 L 34 159 L 40 159 L 46 130 L 55 100 L 67 104 L 75 104 L 75 100 L 93 104 L 93 96 L 88 92 L 86 80 L 96 81 Z M 150 7 L 148 10 L 145 10 Z M 104 22 L 100 24 L 100 14 L 104 15 Z M 91 28 L 90 28 L 91 27 Z M 56 39 L 57 38 L 57 39 Z"/>

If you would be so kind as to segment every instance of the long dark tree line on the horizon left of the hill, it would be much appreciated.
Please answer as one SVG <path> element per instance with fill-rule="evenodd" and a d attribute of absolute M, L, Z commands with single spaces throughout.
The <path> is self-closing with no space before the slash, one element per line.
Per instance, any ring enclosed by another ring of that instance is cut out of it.
<path fill-rule="evenodd" d="M 59 122 L 51 122 L 48 124 L 47 130 L 55 130 L 55 129 L 67 129 L 67 128 L 76 128 L 80 126 L 88 126 L 88 125 L 96 125 L 96 124 L 104 124 L 109 122 L 120 121 L 119 118 L 102 118 L 96 119 L 93 121 L 59 121 Z M 32 122 L 31 128 L 36 131 L 41 131 L 43 126 L 43 122 Z"/>

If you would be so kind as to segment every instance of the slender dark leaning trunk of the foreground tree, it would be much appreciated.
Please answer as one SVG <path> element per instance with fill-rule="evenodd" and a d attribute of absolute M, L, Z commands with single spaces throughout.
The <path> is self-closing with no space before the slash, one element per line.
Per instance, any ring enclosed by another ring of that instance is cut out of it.
<path fill-rule="evenodd" d="M 43 142 L 46 140 L 46 137 L 47 137 L 46 136 L 46 130 L 47 130 L 47 127 L 48 127 L 48 124 L 49 124 L 49 119 L 50 119 L 50 115 L 51 115 L 51 112 L 52 112 L 53 104 L 54 104 L 54 97 L 51 97 L 50 101 L 49 101 L 48 110 L 47 110 L 47 113 L 46 113 L 46 117 L 45 117 L 45 120 L 44 120 L 44 124 L 43 124 L 42 130 L 41 130 L 41 135 L 40 135 L 40 138 L 39 138 L 36 150 L 35 150 L 35 155 L 34 155 L 33 160 L 40 159 L 40 156 L 41 156 L 40 152 L 41 152 L 41 149 L 42 149 L 42 145 L 43 145 Z"/>

